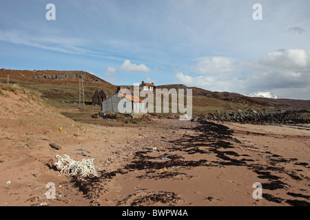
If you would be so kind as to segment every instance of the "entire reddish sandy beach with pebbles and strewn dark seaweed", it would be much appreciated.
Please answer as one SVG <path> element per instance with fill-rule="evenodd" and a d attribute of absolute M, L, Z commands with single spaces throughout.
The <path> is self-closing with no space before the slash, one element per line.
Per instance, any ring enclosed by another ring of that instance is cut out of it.
<path fill-rule="evenodd" d="M 16 135 L 1 130 L 1 206 L 310 204 L 307 128 L 154 119 L 133 127 L 72 124 L 44 135 L 27 133 L 29 126 Z M 63 147 L 51 148 L 52 138 Z M 55 156 L 65 154 L 94 158 L 100 177 L 59 176 Z M 45 196 L 49 182 L 55 199 Z M 262 199 L 253 197 L 257 182 Z"/>

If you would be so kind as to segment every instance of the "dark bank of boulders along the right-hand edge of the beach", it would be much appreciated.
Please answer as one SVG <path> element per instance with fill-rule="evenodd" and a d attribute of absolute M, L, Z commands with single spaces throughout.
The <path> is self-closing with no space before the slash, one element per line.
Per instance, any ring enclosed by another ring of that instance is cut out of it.
<path fill-rule="evenodd" d="M 309 110 L 267 110 L 248 111 L 239 110 L 237 113 L 220 113 L 205 116 L 207 120 L 218 120 L 223 122 L 240 122 L 250 124 L 310 124 Z"/>

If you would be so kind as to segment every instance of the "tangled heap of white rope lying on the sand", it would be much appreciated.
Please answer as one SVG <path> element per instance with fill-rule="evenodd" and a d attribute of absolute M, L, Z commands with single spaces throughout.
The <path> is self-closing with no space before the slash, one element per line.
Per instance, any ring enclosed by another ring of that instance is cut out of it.
<path fill-rule="evenodd" d="M 94 158 L 82 159 L 81 162 L 74 161 L 68 155 L 56 155 L 58 162 L 54 163 L 54 166 L 59 172 L 59 176 L 66 173 L 70 177 L 77 177 L 77 179 L 83 179 L 84 177 L 99 177 L 99 174 L 94 166 Z"/>

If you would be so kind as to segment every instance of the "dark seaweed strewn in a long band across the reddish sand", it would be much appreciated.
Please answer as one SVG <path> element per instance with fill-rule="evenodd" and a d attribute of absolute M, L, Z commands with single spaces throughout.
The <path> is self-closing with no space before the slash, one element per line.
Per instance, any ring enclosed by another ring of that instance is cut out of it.
<path fill-rule="evenodd" d="M 232 135 L 233 131 L 230 131 L 227 126 L 224 126 L 222 124 L 215 124 L 214 122 L 206 122 L 206 121 L 200 121 L 200 125 L 196 126 L 194 128 L 194 131 L 197 131 L 198 135 L 191 136 L 191 135 L 184 135 L 183 139 L 180 140 L 174 140 L 169 141 L 170 143 L 174 144 L 175 146 L 173 148 L 168 148 L 170 151 L 184 151 L 188 154 L 194 154 L 194 153 L 215 153 L 216 157 L 222 159 L 222 162 L 207 162 L 205 159 L 200 159 L 199 161 L 183 161 L 182 157 L 178 157 L 176 155 L 163 155 L 165 157 L 169 156 L 170 160 L 165 162 L 149 162 L 147 159 L 159 159 L 159 157 L 151 157 L 147 155 L 150 151 L 138 151 L 135 153 L 134 161 L 132 161 L 131 164 L 127 164 L 123 169 L 127 170 L 124 171 L 122 169 L 118 169 L 117 171 L 111 172 L 111 173 L 102 173 L 101 177 L 99 179 L 90 179 L 87 184 L 81 183 L 80 181 L 75 181 L 76 186 L 80 188 L 80 190 L 87 195 L 87 197 L 90 197 L 92 199 L 95 199 L 99 197 L 99 195 L 94 195 L 94 193 L 90 193 L 93 188 L 101 188 L 101 181 L 104 179 L 112 179 L 117 173 L 124 174 L 129 171 L 133 170 L 152 170 L 152 169 L 160 169 L 163 167 L 169 168 L 172 166 L 182 166 L 182 167 L 194 167 L 194 166 L 247 166 L 247 168 L 254 170 L 258 174 L 258 178 L 261 179 L 269 179 L 269 183 L 262 184 L 264 189 L 268 190 L 276 190 L 279 188 L 287 188 L 287 184 L 280 181 L 280 177 L 276 175 L 271 175 L 269 171 L 263 171 L 263 170 L 273 170 L 278 171 L 280 173 L 286 173 L 291 176 L 292 179 L 300 180 L 300 177 L 294 175 L 293 173 L 287 172 L 284 168 L 278 168 L 276 166 L 259 166 L 254 164 L 247 164 L 247 161 L 253 161 L 251 159 L 232 159 L 228 155 L 233 155 L 234 157 L 239 157 L 238 153 L 234 151 L 220 151 L 219 149 L 228 149 L 228 148 L 234 148 L 232 146 L 231 142 L 236 142 L 240 144 L 240 141 L 236 140 Z M 192 144 L 192 143 L 195 144 Z M 207 148 L 201 149 L 201 148 Z M 247 155 L 245 155 L 247 156 Z M 278 162 L 276 159 L 273 161 L 275 164 Z M 284 160 L 280 159 L 281 162 Z M 218 164 L 218 165 L 216 165 Z M 274 164 L 271 164 L 274 165 Z M 299 164 L 298 164 L 299 165 Z M 300 164 L 300 165 L 306 165 L 306 164 Z M 307 164 L 308 165 L 308 164 Z M 167 177 L 174 177 L 176 174 L 168 175 Z M 142 176 L 140 176 L 142 177 Z M 146 175 L 144 177 L 147 177 Z M 164 175 L 164 177 L 166 177 Z M 100 191 L 100 190 L 99 190 Z M 309 197 L 305 195 L 298 194 L 300 198 L 306 198 L 309 199 Z M 291 194 L 293 196 L 293 194 Z M 273 201 L 276 203 L 282 203 L 282 201 L 285 201 L 285 199 L 281 199 L 278 197 L 274 197 L 273 195 L 269 194 L 263 194 L 263 197 L 267 199 L 268 201 Z M 142 198 L 141 198 L 142 199 Z M 291 206 L 309 206 L 309 203 L 307 201 L 300 201 L 300 200 L 292 200 L 288 199 L 285 202 L 289 203 Z M 137 203 L 135 203 L 137 205 Z"/>

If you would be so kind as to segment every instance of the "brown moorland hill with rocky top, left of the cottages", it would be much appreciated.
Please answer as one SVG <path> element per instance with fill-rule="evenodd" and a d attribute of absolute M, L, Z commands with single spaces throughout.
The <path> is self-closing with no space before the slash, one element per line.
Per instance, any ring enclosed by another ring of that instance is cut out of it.
<path fill-rule="evenodd" d="M 66 106 L 62 102 L 79 102 L 79 81 L 82 78 L 85 102 L 88 103 L 92 102 L 97 89 L 103 89 L 108 96 L 117 89 L 115 85 L 83 71 L 0 69 L 0 83 L 9 79 L 10 84 L 39 91 L 45 102 L 57 108 Z"/>

